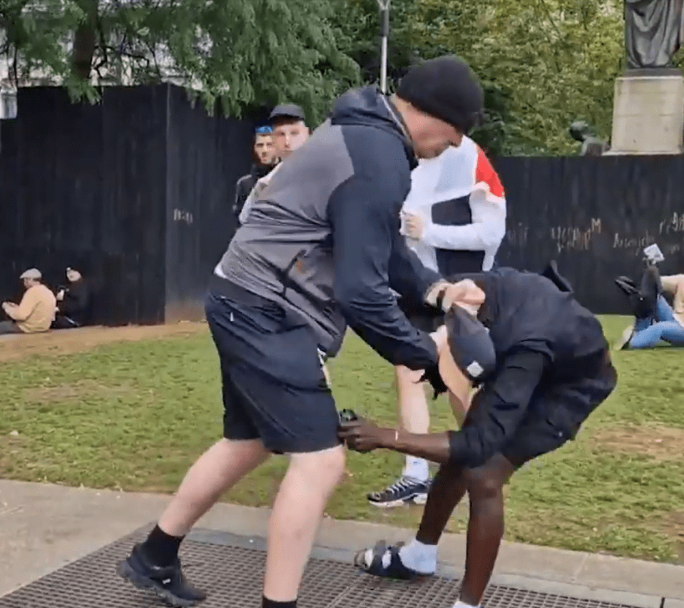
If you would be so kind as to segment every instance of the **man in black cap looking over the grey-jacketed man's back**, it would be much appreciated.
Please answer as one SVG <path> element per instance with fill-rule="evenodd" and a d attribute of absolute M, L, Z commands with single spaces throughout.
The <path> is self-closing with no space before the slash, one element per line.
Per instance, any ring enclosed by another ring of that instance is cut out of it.
<path fill-rule="evenodd" d="M 304 111 L 294 103 L 282 103 L 280 106 L 273 108 L 269 120 L 272 125 L 275 157 L 280 159 L 282 163 L 292 152 L 303 146 L 309 138 L 309 128 L 305 122 Z M 278 168 L 280 168 L 280 163 L 265 176 L 259 178 L 253 186 L 238 216 L 241 224 L 245 223 L 254 201 L 262 190 L 268 186 Z"/>

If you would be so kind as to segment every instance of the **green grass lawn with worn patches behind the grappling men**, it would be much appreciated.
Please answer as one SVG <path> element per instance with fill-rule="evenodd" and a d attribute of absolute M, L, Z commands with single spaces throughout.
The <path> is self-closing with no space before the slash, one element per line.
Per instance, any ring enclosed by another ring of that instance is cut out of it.
<path fill-rule="evenodd" d="M 616 338 L 625 318 L 605 320 Z M 616 392 L 576 442 L 506 487 L 506 538 L 684 563 L 684 351 L 616 353 Z M 354 335 L 330 365 L 338 404 L 394 425 L 392 368 Z M 208 333 L 115 343 L 0 366 L 0 477 L 173 492 L 221 430 L 218 360 Z M 451 425 L 446 400 L 433 427 Z M 286 461 L 275 457 L 225 500 L 270 505 Z M 421 507 L 382 512 L 365 495 L 394 480 L 400 455 L 349 454 L 331 517 L 414 527 Z M 153 518 L 155 514 L 150 514 Z M 462 505 L 449 530 L 464 530 Z"/>

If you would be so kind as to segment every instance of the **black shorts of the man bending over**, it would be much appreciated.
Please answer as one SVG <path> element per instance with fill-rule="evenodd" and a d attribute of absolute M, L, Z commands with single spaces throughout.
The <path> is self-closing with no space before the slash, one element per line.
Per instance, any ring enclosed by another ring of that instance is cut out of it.
<path fill-rule="evenodd" d="M 501 450 L 514 467 L 543 454 L 548 454 L 574 440 L 591 412 L 606 400 L 616 387 L 618 374 L 607 352 L 596 355 L 598 365 L 593 372 L 566 380 L 547 380 L 538 385 L 530 401 L 529 411 L 515 434 Z M 469 417 L 476 417 L 477 395 Z"/>

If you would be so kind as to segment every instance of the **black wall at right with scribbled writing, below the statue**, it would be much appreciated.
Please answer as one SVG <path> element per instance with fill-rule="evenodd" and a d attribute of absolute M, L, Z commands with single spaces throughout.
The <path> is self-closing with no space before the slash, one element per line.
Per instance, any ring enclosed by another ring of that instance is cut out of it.
<path fill-rule="evenodd" d="M 596 313 L 628 313 L 613 283 L 638 278 L 643 248 L 665 255 L 661 273 L 684 272 L 684 156 L 500 158 L 508 233 L 498 263 L 558 266 Z"/>

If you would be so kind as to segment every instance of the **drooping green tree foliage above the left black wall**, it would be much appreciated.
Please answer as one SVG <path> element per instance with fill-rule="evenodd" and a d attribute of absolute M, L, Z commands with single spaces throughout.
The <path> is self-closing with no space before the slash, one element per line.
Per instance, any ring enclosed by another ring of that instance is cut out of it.
<path fill-rule="evenodd" d="M 0 0 L 0 29 L 20 81 L 38 70 L 76 98 L 129 74 L 191 85 L 234 115 L 287 100 L 317 121 L 358 81 L 337 48 L 332 10 L 327 0 Z M 77 56 L 92 78 L 78 74 Z"/>

